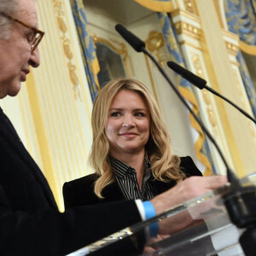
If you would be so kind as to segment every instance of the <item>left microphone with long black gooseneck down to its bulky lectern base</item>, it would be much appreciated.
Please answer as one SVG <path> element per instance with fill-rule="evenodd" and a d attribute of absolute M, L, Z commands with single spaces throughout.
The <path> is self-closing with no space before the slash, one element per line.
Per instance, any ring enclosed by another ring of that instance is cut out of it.
<path fill-rule="evenodd" d="M 121 30 L 119 29 L 120 27 L 121 27 Z M 160 64 L 154 59 L 154 57 L 145 48 L 145 44 L 143 44 L 143 41 L 141 41 L 131 32 L 128 32 L 121 25 L 117 25 L 116 29 L 117 29 L 117 32 L 121 31 L 119 32 L 119 34 L 123 38 L 125 38 L 125 41 L 131 44 L 131 46 L 136 51 L 143 52 L 145 55 L 148 55 L 148 57 L 154 62 L 156 67 L 158 67 L 160 73 L 165 77 L 166 81 L 171 85 L 172 89 L 174 90 L 178 98 L 183 102 L 185 107 L 189 109 L 189 112 L 193 115 L 197 123 L 201 126 L 202 131 L 204 131 L 207 134 L 207 137 L 211 140 L 215 148 L 217 148 L 218 154 L 220 155 L 221 159 L 224 162 L 224 165 L 227 168 L 227 176 L 230 182 L 230 192 L 227 195 L 223 196 L 224 204 L 230 214 L 231 221 L 234 224 L 236 224 L 236 226 L 239 228 L 246 228 L 246 231 L 244 231 L 240 236 L 239 241 L 241 243 L 241 247 L 244 253 L 246 253 L 246 255 L 253 256 L 255 254 L 254 244 L 256 242 L 256 207 L 255 207 L 255 203 L 253 203 L 256 201 L 255 186 L 253 185 L 245 188 L 241 186 L 239 179 L 236 178 L 236 175 L 231 171 L 227 161 L 224 158 L 224 154 L 218 147 L 218 144 L 212 137 L 211 133 L 207 130 L 205 125 L 201 122 L 201 119 L 199 119 L 194 113 L 194 111 L 189 107 L 189 104 L 185 101 L 183 96 L 179 93 L 176 86 L 172 83 L 172 80 L 169 79 L 169 77 L 166 75 L 164 69 L 160 67 Z M 194 79 L 194 81 L 196 82 L 197 79 Z M 202 84 L 203 83 L 201 82 L 201 86 Z"/>

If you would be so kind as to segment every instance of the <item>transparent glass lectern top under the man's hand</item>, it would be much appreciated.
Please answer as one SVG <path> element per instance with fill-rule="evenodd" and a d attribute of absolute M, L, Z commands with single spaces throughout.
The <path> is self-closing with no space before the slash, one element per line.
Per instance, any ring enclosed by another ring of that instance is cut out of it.
<path fill-rule="evenodd" d="M 255 186 L 256 173 L 242 178 L 241 185 L 243 187 Z M 229 213 L 224 206 L 222 196 L 229 191 L 230 186 L 213 190 L 206 195 L 173 207 L 159 216 L 119 230 L 119 232 L 81 248 L 69 256 L 104 254 L 245 255 L 239 243 L 243 230 L 231 223 Z M 168 235 L 150 238 L 149 226 L 155 222 L 164 226 Z M 127 242 L 131 243 L 131 253 L 122 250 L 122 241 L 126 242 L 126 247 Z M 119 246 L 115 246 L 116 243 Z"/>

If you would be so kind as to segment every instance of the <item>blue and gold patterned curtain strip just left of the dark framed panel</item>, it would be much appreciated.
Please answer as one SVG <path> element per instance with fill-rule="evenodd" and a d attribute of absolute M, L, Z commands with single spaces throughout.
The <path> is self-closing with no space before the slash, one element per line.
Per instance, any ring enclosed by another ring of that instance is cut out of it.
<path fill-rule="evenodd" d="M 88 33 L 88 22 L 84 13 L 83 1 L 70 0 L 70 3 L 79 35 L 81 52 L 83 53 L 82 57 L 84 61 L 85 73 L 90 87 L 90 96 L 92 102 L 94 102 L 99 90 L 97 73 L 100 71 L 99 63 L 96 57 L 96 49 L 94 47 L 92 38 Z"/>

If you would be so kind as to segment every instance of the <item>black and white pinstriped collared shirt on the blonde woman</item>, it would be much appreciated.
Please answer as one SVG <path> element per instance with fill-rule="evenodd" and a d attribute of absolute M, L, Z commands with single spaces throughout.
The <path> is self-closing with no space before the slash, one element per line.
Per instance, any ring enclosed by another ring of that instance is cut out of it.
<path fill-rule="evenodd" d="M 137 183 L 137 173 L 135 169 L 113 157 L 110 157 L 110 164 L 114 177 L 117 183 L 119 183 L 119 188 L 126 200 L 140 199 L 142 201 L 148 201 L 156 195 L 152 183 L 149 182 L 152 178 L 152 173 L 150 163 L 146 157 L 144 159 L 145 170 L 143 174 L 142 191 L 140 191 Z"/>

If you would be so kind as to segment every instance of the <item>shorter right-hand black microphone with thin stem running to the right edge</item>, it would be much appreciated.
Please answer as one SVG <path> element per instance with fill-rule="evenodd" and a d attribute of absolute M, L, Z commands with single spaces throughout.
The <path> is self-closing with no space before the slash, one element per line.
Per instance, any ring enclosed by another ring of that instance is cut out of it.
<path fill-rule="evenodd" d="M 168 67 L 172 68 L 172 70 L 179 75 L 181 75 L 184 79 L 187 79 L 191 84 L 194 84 L 199 89 L 207 89 L 211 91 L 214 95 L 219 96 L 220 98 L 224 99 L 224 101 L 229 102 L 230 105 L 235 107 L 238 111 L 240 111 L 242 114 L 244 114 L 248 119 L 251 119 L 256 124 L 256 119 L 253 119 L 251 115 L 249 115 L 247 112 L 245 112 L 243 109 L 238 107 L 234 102 L 231 102 L 228 98 L 225 96 L 222 96 L 218 93 L 218 91 L 213 90 L 211 87 L 207 86 L 207 81 L 205 79 L 201 79 L 199 76 L 195 75 L 195 73 L 190 72 L 188 69 L 178 65 L 174 61 L 168 61 L 167 62 Z"/>

